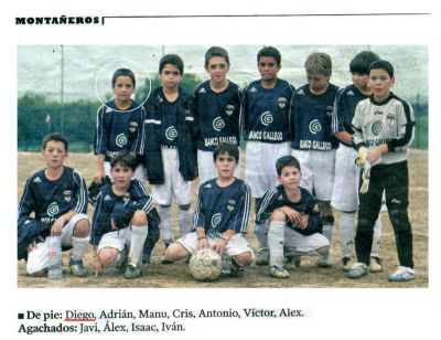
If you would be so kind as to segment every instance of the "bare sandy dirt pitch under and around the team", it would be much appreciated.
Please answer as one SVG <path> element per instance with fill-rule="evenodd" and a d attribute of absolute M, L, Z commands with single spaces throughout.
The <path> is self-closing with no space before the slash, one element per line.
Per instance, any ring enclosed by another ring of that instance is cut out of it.
<path fill-rule="evenodd" d="M 245 161 L 241 162 L 243 164 Z M 90 153 L 71 153 L 67 164 L 78 169 L 87 184 L 90 183 L 96 169 L 96 159 Z M 41 153 L 19 152 L 18 153 L 18 200 L 23 192 L 26 178 L 34 171 L 44 167 Z M 385 272 L 369 274 L 359 280 L 349 280 L 345 277 L 340 265 L 340 242 L 338 229 L 334 230 L 334 242 L 332 245 L 333 266 L 332 268 L 318 268 L 314 266 L 314 257 L 303 257 L 300 268 L 289 268 L 291 278 L 276 279 L 268 275 L 268 266 L 259 267 L 252 264 L 246 268 L 245 276 L 239 279 L 220 278 L 215 283 L 198 283 L 190 275 L 186 265 L 162 265 L 160 258 L 163 245 L 160 241 L 154 249 L 152 263 L 142 268 L 143 275 L 139 279 L 127 280 L 114 268 L 106 268 L 100 277 L 92 275 L 92 246 L 85 257 L 85 264 L 89 270 L 86 278 L 71 276 L 67 267 L 68 254 L 64 254 L 64 277 L 61 281 L 49 280 L 47 278 L 34 278 L 26 276 L 25 263 L 18 263 L 18 287 L 219 287 L 219 288 L 313 288 L 313 287 L 351 287 L 351 288 L 409 288 L 428 287 L 429 264 L 428 264 L 428 151 L 411 150 L 409 157 L 410 172 L 410 206 L 409 216 L 413 232 L 413 257 L 417 278 L 413 281 L 404 284 L 390 284 L 387 281 L 389 273 L 394 272 L 398 259 L 395 246 L 394 231 L 387 213 L 381 213 L 383 236 L 380 256 L 384 259 Z M 196 188 L 197 181 L 194 182 Z M 195 192 L 195 190 L 194 190 Z M 194 196 L 195 200 L 195 196 Z M 193 203 L 194 203 L 193 200 Z M 251 212 L 252 213 L 252 212 Z M 89 206 L 89 216 L 93 208 Z M 338 216 L 335 216 L 338 220 Z M 256 238 L 252 231 L 252 217 L 248 230 L 248 240 L 256 249 Z M 178 235 L 178 230 L 175 230 Z"/>

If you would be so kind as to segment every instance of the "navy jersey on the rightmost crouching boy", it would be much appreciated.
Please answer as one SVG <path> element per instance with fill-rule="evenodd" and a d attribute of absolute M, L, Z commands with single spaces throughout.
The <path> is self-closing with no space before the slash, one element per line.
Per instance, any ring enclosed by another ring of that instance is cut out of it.
<path fill-rule="evenodd" d="M 283 185 L 278 185 L 266 192 L 261 199 L 259 206 L 257 208 L 256 222 L 265 223 L 272 214 L 272 212 L 282 206 L 289 206 L 299 212 L 300 214 L 308 214 L 309 222 L 304 230 L 297 229 L 290 220 L 287 220 L 287 226 L 295 230 L 303 235 L 312 235 L 314 233 L 321 233 L 323 222 L 320 215 L 320 211 L 316 206 L 315 199 L 313 195 L 303 188 L 300 188 L 300 201 L 294 203 L 290 201 L 283 189 Z"/>

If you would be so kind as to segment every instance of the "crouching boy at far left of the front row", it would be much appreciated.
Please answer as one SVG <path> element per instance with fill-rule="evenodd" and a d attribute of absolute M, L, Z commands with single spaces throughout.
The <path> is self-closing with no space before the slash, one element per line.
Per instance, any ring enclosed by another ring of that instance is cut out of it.
<path fill-rule="evenodd" d="M 85 276 L 83 256 L 90 233 L 87 189 L 82 174 L 64 166 L 67 153 L 68 142 L 61 134 L 44 137 L 46 168 L 28 179 L 20 200 L 18 257 L 28 259 L 37 243 L 50 235 L 61 235 L 62 247 L 72 248 L 72 274 Z"/>

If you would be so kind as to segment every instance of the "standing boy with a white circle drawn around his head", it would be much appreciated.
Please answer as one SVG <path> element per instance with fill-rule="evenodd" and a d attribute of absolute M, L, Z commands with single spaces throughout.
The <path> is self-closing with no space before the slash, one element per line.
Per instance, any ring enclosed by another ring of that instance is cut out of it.
<path fill-rule="evenodd" d="M 104 176 L 110 174 L 110 159 L 121 150 L 133 155 L 142 153 L 142 124 L 146 110 L 131 99 L 135 93 L 136 78 L 128 68 L 119 68 L 111 77 L 111 89 L 115 99 L 98 108 L 95 129 L 95 155 L 98 170 L 94 182 L 100 184 Z M 136 178 L 143 181 L 143 164 L 140 159 Z"/>

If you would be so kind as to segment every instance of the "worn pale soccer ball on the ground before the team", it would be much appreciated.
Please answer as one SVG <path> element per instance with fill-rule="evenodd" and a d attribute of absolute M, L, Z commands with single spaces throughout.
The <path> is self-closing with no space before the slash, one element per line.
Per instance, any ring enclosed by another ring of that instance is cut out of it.
<path fill-rule="evenodd" d="M 220 276 L 220 255 L 209 248 L 196 251 L 190 258 L 190 273 L 200 281 L 212 281 Z"/>

